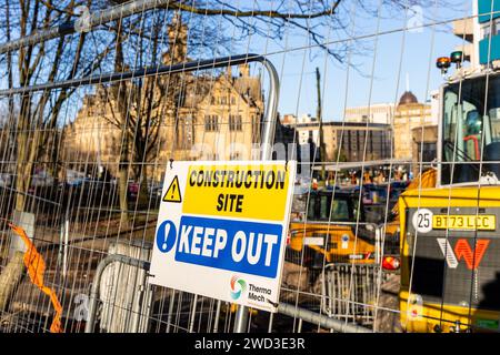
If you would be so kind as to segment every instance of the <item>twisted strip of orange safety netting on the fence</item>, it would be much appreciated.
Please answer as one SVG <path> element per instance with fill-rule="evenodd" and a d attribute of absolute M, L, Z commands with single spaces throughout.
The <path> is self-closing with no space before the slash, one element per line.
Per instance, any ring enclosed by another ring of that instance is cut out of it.
<path fill-rule="evenodd" d="M 50 301 L 52 302 L 53 308 L 56 310 L 56 315 L 52 320 L 52 324 L 50 325 L 50 332 L 63 333 L 61 326 L 62 306 L 59 303 L 56 292 L 43 284 L 43 274 L 46 272 L 46 262 L 43 261 L 43 257 L 38 253 L 37 248 L 34 247 L 33 243 L 31 243 L 23 229 L 13 224 L 9 224 L 9 226 L 22 239 L 27 246 L 23 260 L 24 265 L 28 268 L 28 275 L 30 276 L 31 282 L 36 286 L 38 286 L 44 294 L 50 296 Z"/>

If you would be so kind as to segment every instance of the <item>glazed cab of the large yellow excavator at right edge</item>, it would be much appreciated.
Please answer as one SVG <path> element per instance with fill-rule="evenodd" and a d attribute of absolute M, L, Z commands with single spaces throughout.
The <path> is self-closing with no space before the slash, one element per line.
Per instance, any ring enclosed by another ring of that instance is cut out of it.
<path fill-rule="evenodd" d="M 441 185 L 500 178 L 500 77 L 477 75 L 442 89 Z M 491 163 L 490 163 L 491 162 Z"/>

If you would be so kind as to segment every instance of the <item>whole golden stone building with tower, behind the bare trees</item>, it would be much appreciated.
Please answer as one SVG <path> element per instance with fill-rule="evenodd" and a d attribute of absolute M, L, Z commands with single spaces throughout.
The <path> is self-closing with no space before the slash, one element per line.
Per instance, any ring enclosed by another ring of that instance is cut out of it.
<path fill-rule="evenodd" d="M 189 60 L 187 53 L 187 27 L 174 20 L 169 27 L 169 51 L 163 63 Z M 129 108 L 130 118 L 138 122 L 136 130 L 140 130 L 139 135 L 147 144 L 146 159 L 133 156 L 137 131 L 124 129 L 117 119 L 118 103 L 110 89 L 100 85 L 83 99 L 77 118 L 64 128 L 64 146 L 77 161 L 88 156 L 116 175 L 124 139 L 129 142 L 129 161 L 146 161 L 148 176 L 156 181 L 161 180 L 170 159 L 251 159 L 252 148 L 260 142 L 263 95 L 260 77 L 252 77 L 248 64 L 239 65 L 234 73 L 228 68 L 147 80 L 157 80 L 151 118 L 139 123 L 144 112 L 139 109 L 136 112 L 132 104 Z M 133 85 L 127 82 L 131 92 Z M 133 103 L 134 99 L 132 94 L 130 101 Z M 142 106 L 147 108 L 148 102 Z M 126 131 L 131 134 L 127 136 Z"/>

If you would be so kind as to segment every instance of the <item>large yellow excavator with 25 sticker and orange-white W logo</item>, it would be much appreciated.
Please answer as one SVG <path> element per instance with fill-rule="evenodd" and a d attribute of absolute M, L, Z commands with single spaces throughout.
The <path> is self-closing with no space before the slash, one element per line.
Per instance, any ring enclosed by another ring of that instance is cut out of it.
<path fill-rule="evenodd" d="M 398 203 L 401 327 L 498 332 L 500 72 L 460 69 L 442 85 L 440 108 L 437 169 Z"/>

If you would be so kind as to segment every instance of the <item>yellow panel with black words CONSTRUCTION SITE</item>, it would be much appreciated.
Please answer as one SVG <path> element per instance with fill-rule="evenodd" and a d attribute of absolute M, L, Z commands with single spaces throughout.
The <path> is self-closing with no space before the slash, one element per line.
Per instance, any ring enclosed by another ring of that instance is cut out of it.
<path fill-rule="evenodd" d="M 283 221 L 284 164 L 191 165 L 182 213 Z"/>

